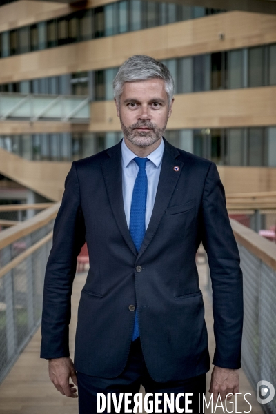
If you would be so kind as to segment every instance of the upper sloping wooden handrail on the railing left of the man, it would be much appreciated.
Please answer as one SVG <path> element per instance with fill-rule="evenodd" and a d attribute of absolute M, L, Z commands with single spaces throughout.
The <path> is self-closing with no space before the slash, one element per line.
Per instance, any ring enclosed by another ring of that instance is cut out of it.
<path fill-rule="evenodd" d="M 41 211 L 36 216 L 22 221 L 17 226 L 12 226 L 4 231 L 0 232 L 0 249 L 8 246 L 12 242 L 15 242 L 21 237 L 29 235 L 35 230 L 46 226 L 52 219 L 55 219 L 57 211 L 59 210 L 60 203 L 55 203 L 52 207 Z"/>

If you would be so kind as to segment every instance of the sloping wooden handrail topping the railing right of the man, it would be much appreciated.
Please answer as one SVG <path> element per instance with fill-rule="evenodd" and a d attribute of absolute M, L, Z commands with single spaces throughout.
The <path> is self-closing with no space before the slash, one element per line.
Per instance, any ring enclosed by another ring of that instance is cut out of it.
<path fill-rule="evenodd" d="M 276 270 L 276 244 L 271 243 L 264 237 L 259 236 L 255 231 L 233 219 L 230 219 L 230 223 L 237 242 L 268 264 L 270 268 Z"/>

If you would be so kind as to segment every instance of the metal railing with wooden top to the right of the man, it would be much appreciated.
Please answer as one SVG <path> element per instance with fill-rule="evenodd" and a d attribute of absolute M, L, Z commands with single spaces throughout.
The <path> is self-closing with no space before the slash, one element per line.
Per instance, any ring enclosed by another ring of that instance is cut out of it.
<path fill-rule="evenodd" d="M 276 245 L 231 219 L 244 275 L 242 368 L 253 388 L 261 380 L 276 385 Z M 212 284 L 208 277 L 208 293 Z M 276 399 L 262 404 L 276 413 Z"/>

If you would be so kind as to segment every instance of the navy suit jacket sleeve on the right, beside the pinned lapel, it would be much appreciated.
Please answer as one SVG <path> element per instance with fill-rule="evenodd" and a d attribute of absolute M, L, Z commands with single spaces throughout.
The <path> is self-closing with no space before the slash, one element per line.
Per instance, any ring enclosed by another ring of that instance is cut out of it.
<path fill-rule="evenodd" d="M 203 244 L 208 255 L 213 288 L 215 355 L 213 364 L 222 368 L 241 366 L 243 290 L 239 252 L 233 235 L 224 187 L 215 164 L 206 176 L 203 209 Z"/>

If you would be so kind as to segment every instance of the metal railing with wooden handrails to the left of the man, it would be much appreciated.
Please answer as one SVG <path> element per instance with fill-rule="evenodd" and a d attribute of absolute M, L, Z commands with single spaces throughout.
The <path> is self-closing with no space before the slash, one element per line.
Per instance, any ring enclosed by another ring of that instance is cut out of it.
<path fill-rule="evenodd" d="M 0 382 L 40 325 L 59 204 L 0 233 Z"/>

